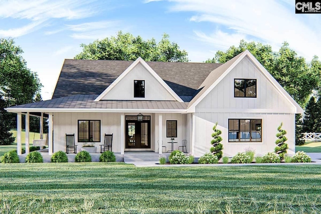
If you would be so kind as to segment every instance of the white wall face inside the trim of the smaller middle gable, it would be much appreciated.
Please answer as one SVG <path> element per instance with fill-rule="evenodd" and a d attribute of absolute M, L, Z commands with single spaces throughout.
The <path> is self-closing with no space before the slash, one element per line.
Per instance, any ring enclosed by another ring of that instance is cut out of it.
<path fill-rule="evenodd" d="M 145 80 L 145 97 L 134 98 L 134 80 Z M 120 93 L 121 92 L 121 93 Z M 138 63 L 102 100 L 176 100 Z"/>

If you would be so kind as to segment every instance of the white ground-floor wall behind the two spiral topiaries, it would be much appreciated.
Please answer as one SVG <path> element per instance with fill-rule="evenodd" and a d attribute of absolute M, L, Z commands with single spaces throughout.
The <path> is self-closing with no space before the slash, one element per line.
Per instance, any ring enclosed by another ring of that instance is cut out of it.
<path fill-rule="evenodd" d="M 228 142 L 228 119 L 262 119 L 262 142 Z M 245 149 L 255 150 L 256 156 L 263 156 L 267 152 L 273 152 L 276 146 L 275 140 L 277 127 L 283 122 L 282 129 L 288 140 L 289 155 L 295 153 L 295 115 L 281 113 L 195 113 L 195 147 L 194 155 L 202 156 L 211 148 L 211 134 L 213 126 L 218 122 L 218 128 L 222 131 L 223 155 L 232 157 L 237 152 L 244 152 Z"/>

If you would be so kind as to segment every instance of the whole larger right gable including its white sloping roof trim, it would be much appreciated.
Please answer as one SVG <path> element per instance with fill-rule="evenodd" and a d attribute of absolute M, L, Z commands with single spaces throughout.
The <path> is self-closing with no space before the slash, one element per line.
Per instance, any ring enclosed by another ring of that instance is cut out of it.
<path fill-rule="evenodd" d="M 235 58 L 216 69 L 224 68 L 217 79 L 213 79 L 212 82 L 204 81 L 207 82 L 205 90 L 203 88 L 199 97 L 190 102 L 188 111 L 203 109 L 217 112 L 303 112 L 303 109 L 249 51 Z M 256 79 L 257 97 L 234 97 L 234 79 Z"/>

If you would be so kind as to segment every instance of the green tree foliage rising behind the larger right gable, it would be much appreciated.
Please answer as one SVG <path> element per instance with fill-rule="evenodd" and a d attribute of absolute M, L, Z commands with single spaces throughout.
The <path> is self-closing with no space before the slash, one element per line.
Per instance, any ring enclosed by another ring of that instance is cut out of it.
<path fill-rule="evenodd" d="M 249 50 L 302 107 L 312 90 L 319 88 L 321 63 L 318 58 L 314 57 L 308 64 L 303 57 L 298 57 L 286 42 L 278 52 L 273 52 L 269 45 L 241 40 L 239 47 L 231 46 L 226 52 L 218 51 L 213 59 L 206 62 L 225 63 L 245 50 Z"/>

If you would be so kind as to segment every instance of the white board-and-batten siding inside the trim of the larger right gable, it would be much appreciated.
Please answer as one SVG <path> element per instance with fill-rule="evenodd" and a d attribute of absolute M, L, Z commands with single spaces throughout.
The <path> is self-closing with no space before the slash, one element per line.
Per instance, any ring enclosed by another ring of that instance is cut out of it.
<path fill-rule="evenodd" d="M 256 98 L 234 97 L 234 79 L 255 79 Z M 248 57 L 244 57 L 196 106 L 196 111 L 201 109 L 294 113 L 293 105 Z"/>

